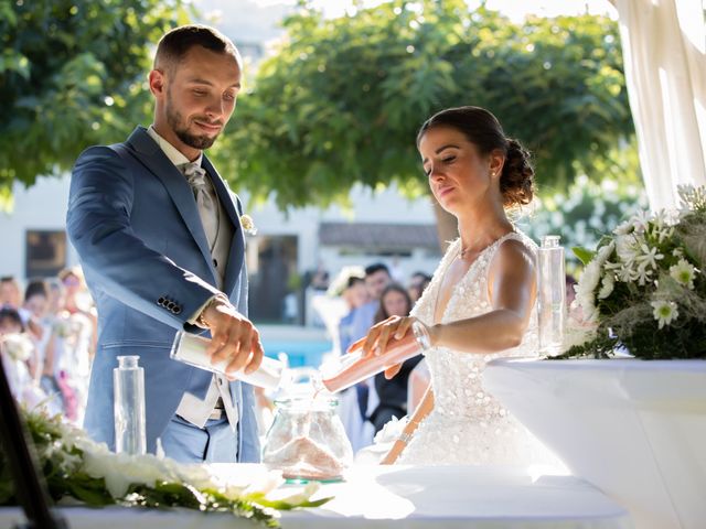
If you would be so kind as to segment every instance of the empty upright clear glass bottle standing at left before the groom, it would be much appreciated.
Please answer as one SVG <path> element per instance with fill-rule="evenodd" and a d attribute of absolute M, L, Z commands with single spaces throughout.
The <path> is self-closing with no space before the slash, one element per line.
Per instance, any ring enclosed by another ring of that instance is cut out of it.
<path fill-rule="evenodd" d="M 118 356 L 113 370 L 115 396 L 115 451 L 145 454 L 145 369 L 138 366 L 139 356 Z"/>

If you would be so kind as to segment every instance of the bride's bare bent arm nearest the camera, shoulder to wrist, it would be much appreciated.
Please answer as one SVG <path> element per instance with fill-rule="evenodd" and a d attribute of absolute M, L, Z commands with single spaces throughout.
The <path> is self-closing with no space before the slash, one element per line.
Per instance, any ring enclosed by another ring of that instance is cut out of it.
<path fill-rule="evenodd" d="M 429 327 L 432 346 L 489 354 L 520 345 L 534 306 L 534 257 L 518 241 L 500 246 L 489 270 L 492 310 L 481 316 Z"/>

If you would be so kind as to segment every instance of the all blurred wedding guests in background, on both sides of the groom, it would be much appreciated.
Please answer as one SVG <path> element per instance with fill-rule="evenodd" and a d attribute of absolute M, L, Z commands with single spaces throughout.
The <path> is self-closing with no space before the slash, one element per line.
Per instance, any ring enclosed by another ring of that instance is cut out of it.
<path fill-rule="evenodd" d="M 382 262 L 350 268 L 340 292 L 346 306 L 339 323 L 342 353 L 373 324 L 408 314 L 429 276 L 415 272 L 404 287 L 393 281 Z M 12 392 L 24 406 L 43 403 L 51 413 L 82 424 L 96 337 L 95 307 L 79 268 L 29 280 L 24 290 L 17 278 L 0 277 L 0 354 Z M 411 371 L 419 359 L 408 360 L 405 370 Z M 370 444 L 392 417 L 406 413 L 408 377 L 404 373 L 386 380 L 378 375 L 341 396 L 356 450 Z"/>

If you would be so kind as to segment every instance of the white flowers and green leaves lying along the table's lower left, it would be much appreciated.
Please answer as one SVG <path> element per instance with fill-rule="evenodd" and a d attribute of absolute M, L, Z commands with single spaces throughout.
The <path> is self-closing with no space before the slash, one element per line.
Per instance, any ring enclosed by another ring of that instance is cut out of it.
<path fill-rule="evenodd" d="M 83 430 L 62 422 L 58 415 L 50 418 L 43 411 L 22 414 L 50 493 L 62 504 L 185 507 L 232 512 L 266 527 L 279 527 L 278 510 L 318 507 L 331 499 L 311 499 L 319 488 L 315 482 L 287 495 L 279 488 L 285 479 L 276 471 L 256 482 L 237 484 L 202 465 L 185 465 L 152 454 L 115 454 L 105 443 L 96 443 Z M 0 505 L 17 505 L 13 479 L 1 451 Z"/>

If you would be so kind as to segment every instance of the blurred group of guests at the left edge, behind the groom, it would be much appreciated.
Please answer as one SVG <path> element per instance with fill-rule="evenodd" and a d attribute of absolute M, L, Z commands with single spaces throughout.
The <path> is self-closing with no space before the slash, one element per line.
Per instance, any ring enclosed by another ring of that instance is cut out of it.
<path fill-rule="evenodd" d="M 79 269 L 30 280 L 24 295 L 15 278 L 0 278 L 0 354 L 19 402 L 43 403 L 50 413 L 81 424 L 95 322 Z"/>

